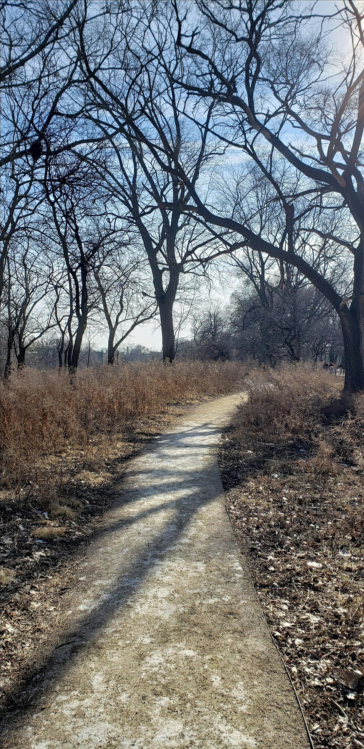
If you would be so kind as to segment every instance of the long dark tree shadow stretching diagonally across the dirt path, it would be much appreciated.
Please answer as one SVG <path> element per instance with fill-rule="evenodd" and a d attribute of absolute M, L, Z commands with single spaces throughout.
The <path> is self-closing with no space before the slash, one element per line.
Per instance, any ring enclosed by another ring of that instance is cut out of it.
<path fill-rule="evenodd" d="M 199 424 L 197 429 L 192 424 L 177 433 L 163 434 L 155 440 L 154 444 L 148 446 L 147 451 L 139 455 L 135 467 L 127 470 L 128 485 L 123 488 L 124 491 L 115 500 L 112 509 L 104 516 L 103 527 L 95 534 L 93 545 L 86 558 L 92 558 L 96 546 L 97 557 L 100 557 L 101 547 L 101 551 L 106 555 L 106 561 L 110 560 L 112 548 L 107 546 L 104 548 L 103 545 L 115 543 L 115 540 L 127 544 L 128 529 L 132 529 L 135 524 L 142 522 L 145 525 L 145 521 L 147 524 L 151 521 L 151 534 L 148 536 L 148 533 L 145 533 L 145 527 L 143 528 L 140 536 L 142 542 L 136 546 L 135 551 L 131 550 L 127 560 L 123 559 L 121 569 L 118 570 L 116 577 L 114 576 L 112 586 L 103 587 L 99 601 L 96 604 L 93 601 L 88 613 L 80 615 L 77 610 L 77 603 L 80 600 L 78 586 L 72 594 L 72 600 L 64 601 L 64 607 L 69 606 L 71 602 L 72 614 L 76 612 L 75 621 L 73 625 L 69 619 L 64 622 L 60 631 L 56 633 L 57 639 L 54 638 L 49 646 L 40 672 L 29 680 L 25 690 L 22 686 L 18 694 L 13 693 L 14 702 L 22 700 L 22 707 L 4 718 L 4 730 L 7 731 L 7 736 L 22 727 L 29 719 L 30 712 L 34 714 L 34 709 L 37 712 L 48 707 L 48 695 L 52 692 L 55 683 L 59 682 L 72 666 L 73 659 L 82 652 L 82 649 L 88 649 L 97 640 L 112 618 L 121 615 L 133 605 L 133 602 L 137 601 L 143 580 L 151 575 L 157 565 L 173 557 L 174 547 L 183 536 L 186 527 L 192 522 L 195 513 L 221 494 L 216 464 L 220 431 L 219 425 L 213 427 L 210 423 L 205 423 Z M 190 441 L 191 433 L 194 438 L 198 438 L 198 441 L 195 439 Z M 200 437 L 204 439 L 200 440 Z M 164 463 L 168 455 L 163 455 L 163 453 L 165 449 L 168 452 L 171 446 L 174 451 L 178 452 L 192 448 L 198 456 L 201 455 L 201 450 L 206 451 L 206 457 L 201 465 L 190 466 L 186 470 L 183 468 L 183 452 L 181 452 L 181 467 L 172 465 L 168 467 L 166 464 L 163 468 L 164 480 L 161 485 L 160 481 L 154 477 L 154 468 L 151 467 L 150 461 L 155 455 L 159 464 Z M 143 471 L 143 461 L 147 460 L 147 470 Z M 146 476 L 150 476 L 147 491 L 143 491 L 144 485 L 138 487 L 141 476 L 144 481 Z M 136 482 L 135 488 L 134 482 Z M 171 498 L 170 495 L 175 492 L 178 493 L 178 497 Z M 158 497 L 163 494 L 168 495 L 167 501 L 159 502 Z M 148 506 L 140 508 L 138 512 L 130 512 L 132 506 L 139 509 L 141 502 L 148 503 Z M 127 512 L 123 515 L 124 511 Z M 120 514 L 120 517 L 115 519 L 113 517 L 115 513 Z M 161 514 L 161 523 L 155 533 L 154 521 L 158 513 Z M 147 542 L 145 542 L 146 536 L 148 536 Z M 107 576 L 107 570 L 105 572 Z M 100 573 L 103 574 L 103 570 L 100 570 Z M 82 591 L 82 596 L 84 595 L 85 592 Z M 91 591 L 91 596 L 94 595 L 95 592 Z M 70 599 L 70 596 L 67 595 L 65 598 Z"/>

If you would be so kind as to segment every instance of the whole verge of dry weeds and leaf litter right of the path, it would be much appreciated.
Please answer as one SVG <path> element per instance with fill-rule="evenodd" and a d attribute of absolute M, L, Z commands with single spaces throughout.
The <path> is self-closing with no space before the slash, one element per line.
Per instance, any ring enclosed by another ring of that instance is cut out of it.
<path fill-rule="evenodd" d="M 249 373 L 225 434 L 237 537 L 315 747 L 364 745 L 364 398 L 327 418 L 342 380 L 308 366 Z"/>

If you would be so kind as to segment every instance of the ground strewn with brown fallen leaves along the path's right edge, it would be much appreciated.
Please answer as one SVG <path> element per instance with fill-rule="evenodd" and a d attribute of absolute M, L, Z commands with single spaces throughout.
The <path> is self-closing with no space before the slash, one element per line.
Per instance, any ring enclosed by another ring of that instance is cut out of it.
<path fill-rule="evenodd" d="M 237 435 L 219 452 L 228 509 L 312 741 L 363 749 L 363 464 L 318 476 L 309 449 L 247 435 L 248 455 Z"/>

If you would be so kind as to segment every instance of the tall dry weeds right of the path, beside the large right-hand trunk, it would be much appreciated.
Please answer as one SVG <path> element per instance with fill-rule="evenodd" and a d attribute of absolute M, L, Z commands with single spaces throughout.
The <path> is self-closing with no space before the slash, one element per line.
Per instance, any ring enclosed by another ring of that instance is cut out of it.
<path fill-rule="evenodd" d="M 251 369 L 246 383 L 248 398 L 237 418 L 243 449 L 301 443 L 313 449 L 318 476 L 335 473 L 334 459 L 363 466 L 364 395 L 351 398 L 344 416 L 327 421 L 330 404 L 342 391 L 341 377 L 310 364 L 283 363 L 276 369 Z"/>

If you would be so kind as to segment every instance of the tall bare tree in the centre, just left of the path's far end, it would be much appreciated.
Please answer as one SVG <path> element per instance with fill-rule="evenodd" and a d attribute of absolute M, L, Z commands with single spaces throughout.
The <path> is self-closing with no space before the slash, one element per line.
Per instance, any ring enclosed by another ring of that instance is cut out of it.
<path fill-rule="evenodd" d="M 112 166 L 104 175 L 142 238 L 159 308 L 163 359 L 172 362 L 173 307 L 181 274 L 196 273 L 198 266 L 206 273 L 219 249 L 180 207 L 189 194 L 175 163 L 184 164 L 195 185 L 215 148 L 212 143 L 207 147 L 209 112 L 193 133 L 186 119 L 181 126 L 183 103 L 173 85 L 180 55 L 171 48 L 170 10 L 138 1 L 110 6 L 98 31 L 92 24 L 79 25 L 79 57 L 88 79 L 85 116 L 109 139 Z M 92 43 L 96 34 L 106 40 L 107 52 Z"/>

